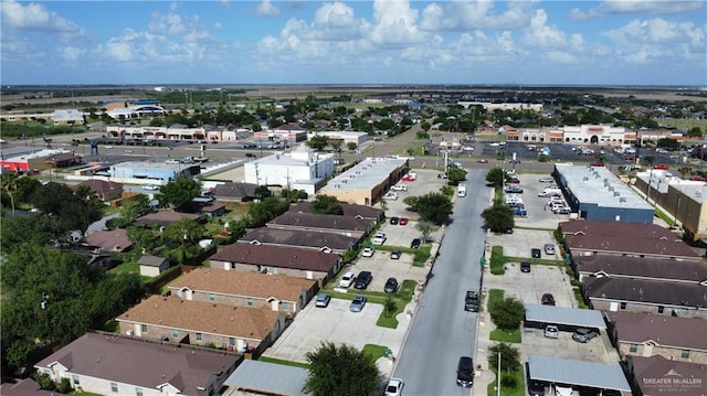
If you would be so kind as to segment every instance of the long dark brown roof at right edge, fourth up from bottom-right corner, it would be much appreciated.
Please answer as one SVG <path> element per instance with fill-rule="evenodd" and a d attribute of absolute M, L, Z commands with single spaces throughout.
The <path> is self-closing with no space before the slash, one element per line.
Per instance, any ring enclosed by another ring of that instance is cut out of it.
<path fill-rule="evenodd" d="M 661 278 L 693 283 L 707 281 L 707 265 L 701 261 L 678 261 L 659 258 L 624 257 L 611 255 L 577 256 L 577 270 L 595 274 L 603 271 L 636 278 Z"/>

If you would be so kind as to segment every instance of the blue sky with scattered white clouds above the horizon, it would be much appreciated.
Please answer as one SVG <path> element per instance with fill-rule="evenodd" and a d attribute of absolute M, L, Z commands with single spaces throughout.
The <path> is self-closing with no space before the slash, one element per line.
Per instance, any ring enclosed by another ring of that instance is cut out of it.
<path fill-rule="evenodd" d="M 0 82 L 707 86 L 707 2 L 0 1 Z"/>

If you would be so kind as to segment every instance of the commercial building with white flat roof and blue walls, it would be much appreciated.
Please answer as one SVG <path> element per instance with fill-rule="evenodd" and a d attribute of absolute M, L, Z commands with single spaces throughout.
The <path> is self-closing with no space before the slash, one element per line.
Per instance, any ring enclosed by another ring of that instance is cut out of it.
<path fill-rule="evenodd" d="M 652 224 L 654 208 L 604 167 L 555 165 L 556 180 L 579 217 Z"/>

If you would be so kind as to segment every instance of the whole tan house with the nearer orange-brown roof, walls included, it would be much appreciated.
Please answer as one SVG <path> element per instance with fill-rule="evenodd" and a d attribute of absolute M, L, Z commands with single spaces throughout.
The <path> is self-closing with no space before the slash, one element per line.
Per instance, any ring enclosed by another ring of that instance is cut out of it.
<path fill-rule="evenodd" d="M 151 296 L 116 318 L 120 334 L 154 341 L 212 346 L 256 355 L 285 329 L 285 315 L 270 307 L 246 308 L 177 296 Z"/>

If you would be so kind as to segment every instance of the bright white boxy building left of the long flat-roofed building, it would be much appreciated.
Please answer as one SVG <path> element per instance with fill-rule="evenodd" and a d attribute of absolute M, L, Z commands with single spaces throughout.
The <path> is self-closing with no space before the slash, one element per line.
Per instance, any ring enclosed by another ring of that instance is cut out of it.
<path fill-rule="evenodd" d="M 282 185 L 315 194 L 334 174 L 334 154 L 321 154 L 300 145 L 292 152 L 277 152 L 246 162 L 244 171 L 246 183 Z"/>

